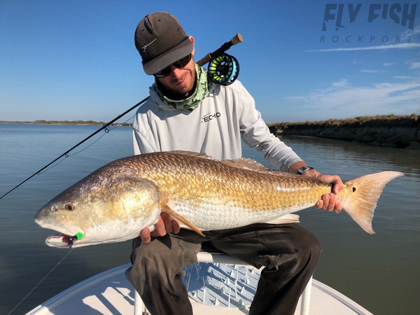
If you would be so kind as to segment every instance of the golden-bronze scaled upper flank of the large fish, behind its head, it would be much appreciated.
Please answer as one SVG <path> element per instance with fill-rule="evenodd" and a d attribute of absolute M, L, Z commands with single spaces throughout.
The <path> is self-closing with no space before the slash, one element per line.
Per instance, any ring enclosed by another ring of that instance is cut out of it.
<path fill-rule="evenodd" d="M 195 163 L 195 160 L 195 155 L 161 153 L 160 158 L 153 160 L 153 163 L 148 159 L 138 159 L 144 167 L 136 168 L 141 169 L 137 175 L 156 183 L 169 197 L 183 197 L 186 202 L 207 197 L 212 203 L 223 206 L 230 201 L 249 211 L 290 207 L 298 204 L 299 200 L 308 200 L 308 190 L 316 196 L 309 201 L 314 204 L 319 196 L 329 193 L 331 188 L 330 185 L 311 178 L 302 181 L 300 177 L 297 181 L 293 177 L 239 169 L 214 160 L 202 159 L 200 163 Z M 154 165 L 158 166 L 154 168 Z M 160 165 L 165 165 L 165 169 Z M 160 172 L 155 172 L 156 170 Z M 161 172 L 166 175 L 161 176 Z"/>

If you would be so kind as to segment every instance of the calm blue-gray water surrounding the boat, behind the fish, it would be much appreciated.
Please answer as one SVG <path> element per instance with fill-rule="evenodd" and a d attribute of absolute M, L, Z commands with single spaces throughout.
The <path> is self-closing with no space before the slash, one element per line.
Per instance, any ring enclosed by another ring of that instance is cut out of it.
<path fill-rule="evenodd" d="M 97 129 L 0 124 L 0 195 Z M 34 223 L 36 211 L 97 167 L 131 155 L 130 132 L 118 127 L 102 133 L 96 143 L 99 137 L 0 200 L 0 314 L 8 314 L 69 253 L 44 244 L 51 232 Z M 405 174 L 388 183 L 379 200 L 375 235 L 367 235 L 344 212 L 312 208 L 300 215 L 301 224 L 323 244 L 316 279 L 374 314 L 420 314 L 420 151 L 301 137 L 283 141 L 316 169 L 342 179 L 382 170 Z M 244 155 L 262 162 L 256 151 L 244 148 Z M 13 314 L 24 314 L 88 276 L 129 262 L 129 256 L 130 241 L 74 249 Z"/>

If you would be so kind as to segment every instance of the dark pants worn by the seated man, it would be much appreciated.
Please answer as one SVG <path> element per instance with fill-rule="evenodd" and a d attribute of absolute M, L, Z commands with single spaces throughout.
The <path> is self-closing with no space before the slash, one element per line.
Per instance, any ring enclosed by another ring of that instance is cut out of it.
<path fill-rule="evenodd" d="M 321 246 L 297 224 L 253 224 L 243 228 L 204 232 L 181 229 L 179 235 L 133 241 L 127 279 L 153 315 L 193 314 L 181 267 L 197 262 L 197 253 L 218 250 L 262 269 L 249 311 L 255 314 L 294 314 L 297 301 L 314 274 Z M 201 246 L 202 245 L 202 246 Z"/>

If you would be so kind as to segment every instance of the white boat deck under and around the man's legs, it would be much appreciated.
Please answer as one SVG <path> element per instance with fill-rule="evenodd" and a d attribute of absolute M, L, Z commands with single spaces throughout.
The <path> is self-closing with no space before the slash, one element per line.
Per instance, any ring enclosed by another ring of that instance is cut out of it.
<path fill-rule="evenodd" d="M 238 264 L 231 264 L 232 259 L 225 255 L 200 253 L 199 256 L 200 263 L 187 269 L 184 277 L 194 314 L 248 314 L 252 300 L 250 294 L 255 292 L 259 278 L 258 270 L 241 265 L 239 260 Z M 120 265 L 92 276 L 55 295 L 27 314 L 111 315 L 135 314 L 134 311 L 143 314 L 141 299 L 125 278 L 128 267 L 130 264 Z M 310 298 L 302 303 L 301 297 L 296 315 L 371 314 L 345 295 L 315 279 L 311 281 L 306 293 L 310 294 Z"/>

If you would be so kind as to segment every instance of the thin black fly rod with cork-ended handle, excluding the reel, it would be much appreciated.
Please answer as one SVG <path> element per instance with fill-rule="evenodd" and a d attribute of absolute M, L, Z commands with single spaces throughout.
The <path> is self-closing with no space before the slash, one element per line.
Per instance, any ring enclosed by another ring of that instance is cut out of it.
<path fill-rule="evenodd" d="M 214 52 L 209 52 L 209 54 L 207 54 L 204 58 L 200 59 L 200 61 L 197 62 L 197 64 L 199 66 L 204 66 L 204 64 L 207 64 L 207 62 L 210 62 L 212 58 L 217 57 L 218 55 L 221 55 L 223 52 L 225 52 L 230 47 L 232 47 L 232 45 L 236 45 L 237 43 L 241 43 L 242 41 L 243 40 L 242 40 L 241 34 L 236 34 L 236 36 L 233 37 L 230 41 L 228 41 L 228 42 L 224 43 L 223 45 L 221 45 L 221 48 L 218 48 L 218 50 L 215 50 Z M 141 102 L 135 104 L 130 109 L 127 109 L 127 111 L 125 111 L 124 113 L 118 115 L 118 117 L 116 117 L 113 120 L 111 120 L 109 123 L 106 123 L 105 125 L 103 125 L 102 127 L 100 127 L 97 131 L 95 131 L 92 134 L 90 134 L 90 136 L 87 136 L 85 139 L 83 139 L 78 144 L 76 144 L 75 146 L 73 146 L 72 148 L 70 148 L 69 150 L 67 150 L 66 152 L 64 152 L 62 155 L 59 155 L 59 157 L 55 158 L 55 160 L 52 160 L 50 163 L 48 163 L 47 165 L 45 165 L 43 168 L 39 169 L 37 172 L 35 172 L 31 176 L 29 176 L 27 179 L 25 179 L 25 181 L 20 182 L 18 185 L 16 185 L 12 189 L 10 189 L 7 193 L 5 193 L 4 195 L 2 195 L 0 197 L 0 200 L 3 199 L 3 197 L 5 197 L 6 195 L 8 195 L 9 193 L 13 192 L 13 190 L 19 188 L 24 183 L 26 183 L 27 181 L 29 181 L 29 179 L 32 179 L 34 176 L 36 176 L 39 173 L 41 173 L 47 167 L 49 167 L 50 165 L 52 165 L 55 162 L 57 162 L 60 158 L 62 158 L 64 156 L 68 156 L 69 153 L 71 151 L 73 151 L 75 148 L 77 148 L 81 144 L 85 143 L 90 138 L 94 137 L 95 134 L 98 134 L 102 130 L 105 130 L 106 128 L 108 128 L 110 125 L 112 125 L 113 123 L 115 123 L 116 120 L 120 119 L 121 117 L 125 116 L 127 113 L 130 113 L 130 111 L 132 111 L 133 109 L 137 108 L 138 106 L 140 106 L 141 104 L 143 104 L 144 102 L 146 102 L 147 99 L 148 99 L 148 97 L 146 97 L 145 99 L 141 100 Z"/>

